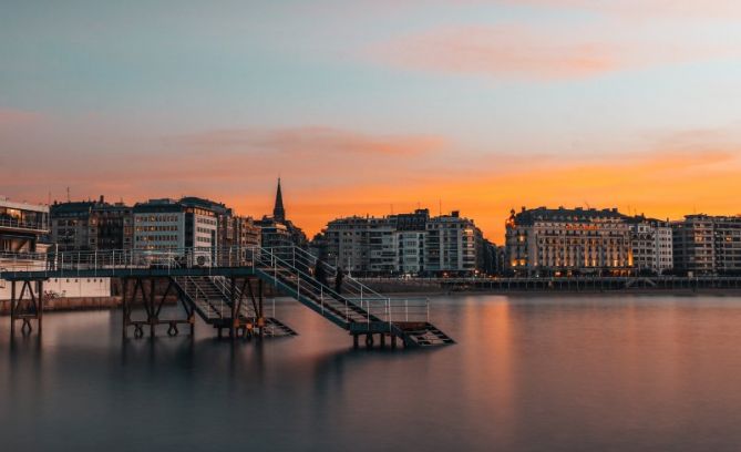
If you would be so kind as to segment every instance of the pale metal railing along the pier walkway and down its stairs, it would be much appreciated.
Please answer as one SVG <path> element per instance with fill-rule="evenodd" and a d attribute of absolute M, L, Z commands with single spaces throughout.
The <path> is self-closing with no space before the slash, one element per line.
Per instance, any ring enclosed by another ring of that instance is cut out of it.
<path fill-rule="evenodd" d="M 126 270 L 159 269 L 166 274 L 184 268 L 199 268 L 212 277 L 217 289 L 230 296 L 228 285 L 219 280 L 216 268 L 253 267 L 259 268 L 284 284 L 295 285 L 297 296 L 310 295 L 318 302 L 322 312 L 331 307 L 333 310 L 343 310 L 344 320 L 358 321 L 359 315 L 364 321 L 418 321 L 426 319 L 429 300 L 426 299 L 392 299 L 383 296 L 356 278 L 344 275 L 341 287 L 335 287 L 329 281 L 337 278 L 338 269 L 313 255 L 298 247 L 226 247 L 226 248 L 172 248 L 165 250 L 152 249 L 112 249 L 99 251 L 61 251 L 50 254 L 0 254 L 0 264 L 8 268 L 7 274 L 37 271 L 54 273 L 60 277 L 75 276 L 85 271 L 105 270 L 107 276 L 125 276 Z M 315 277 L 317 269 L 327 276 L 328 281 L 322 284 Z M 313 271 L 313 275 L 311 274 Z M 182 273 L 174 273 L 182 275 Z M 198 287 L 195 279 L 186 281 L 196 288 L 196 298 L 208 302 L 207 294 Z M 336 290 L 338 289 L 339 290 Z M 237 290 L 239 290 L 237 288 Z M 240 296 L 240 294 L 236 294 Z M 223 301 L 223 300 L 222 300 Z M 352 305 L 352 306 L 351 306 Z M 359 307 L 362 312 L 358 312 Z M 219 308 L 223 309 L 223 306 Z M 219 311 L 219 315 L 223 310 Z"/>

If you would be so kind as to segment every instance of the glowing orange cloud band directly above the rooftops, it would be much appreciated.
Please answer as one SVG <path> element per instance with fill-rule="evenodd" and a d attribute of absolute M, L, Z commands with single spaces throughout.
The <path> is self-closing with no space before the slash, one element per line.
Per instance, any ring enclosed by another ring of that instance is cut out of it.
<path fill-rule="evenodd" d="M 64 198 L 70 186 L 73 198 L 128 203 L 196 195 L 261 216 L 272 208 L 280 175 L 288 215 L 309 233 L 337 216 L 418 205 L 436 213 L 442 202 L 443 212 L 462 210 L 501 243 L 507 212 L 521 205 L 589 203 L 672 218 L 696 208 L 735 214 L 741 136 L 734 130 L 650 132 L 642 136 L 648 144 L 609 155 L 460 152 L 441 136 L 329 126 L 219 130 L 141 141 L 136 151 L 130 142 L 111 148 L 95 136 L 64 142 L 43 134 L 6 146 L 0 135 L 0 156 L 13 162 L 0 165 L 0 193 L 39 202 L 48 192 Z"/>

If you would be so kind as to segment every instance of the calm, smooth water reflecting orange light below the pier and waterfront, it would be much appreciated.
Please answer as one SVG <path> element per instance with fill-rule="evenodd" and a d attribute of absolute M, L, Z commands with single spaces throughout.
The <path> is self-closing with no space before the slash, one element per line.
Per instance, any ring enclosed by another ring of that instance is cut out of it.
<path fill-rule="evenodd" d="M 122 343 L 119 312 L 0 318 L 0 450 L 741 450 L 741 298 L 434 298 L 459 343 L 352 351 L 301 336 Z"/>

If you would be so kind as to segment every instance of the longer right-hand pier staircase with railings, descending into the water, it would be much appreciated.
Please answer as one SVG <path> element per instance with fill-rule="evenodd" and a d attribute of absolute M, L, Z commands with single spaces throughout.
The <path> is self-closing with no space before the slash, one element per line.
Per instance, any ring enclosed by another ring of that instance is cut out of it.
<path fill-rule="evenodd" d="M 308 274 L 309 268 L 316 269 L 317 265 L 321 265 L 328 280 L 335 280 L 337 268 L 317 261 L 315 256 L 303 249 L 263 248 L 259 255 L 251 256 L 251 260 L 255 263 L 255 273 L 264 281 L 352 335 L 390 335 L 400 338 L 406 347 L 455 343 L 428 321 L 426 301 L 423 311 L 420 311 L 420 306 L 411 306 L 413 311 L 410 319 L 406 300 L 384 297 L 350 276 L 343 278 L 341 294 L 338 294 L 329 284 L 319 282 Z"/>

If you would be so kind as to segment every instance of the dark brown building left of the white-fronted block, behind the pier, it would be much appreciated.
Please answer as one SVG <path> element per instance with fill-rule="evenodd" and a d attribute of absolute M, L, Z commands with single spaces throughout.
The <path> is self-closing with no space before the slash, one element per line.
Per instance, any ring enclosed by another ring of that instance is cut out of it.
<path fill-rule="evenodd" d="M 133 245 L 133 212 L 123 203 L 99 201 L 54 203 L 51 239 L 59 251 L 128 249 Z"/>

